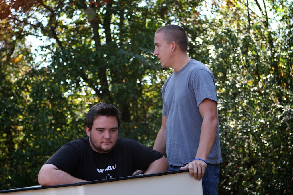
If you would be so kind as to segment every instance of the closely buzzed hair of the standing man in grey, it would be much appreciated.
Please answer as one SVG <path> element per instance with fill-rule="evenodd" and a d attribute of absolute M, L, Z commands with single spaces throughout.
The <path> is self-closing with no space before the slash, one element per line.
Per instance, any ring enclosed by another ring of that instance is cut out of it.
<path fill-rule="evenodd" d="M 156 32 L 162 32 L 164 34 L 163 39 L 169 44 L 174 41 L 178 44 L 181 51 L 187 51 L 188 47 L 188 37 L 185 30 L 178 25 L 169 24 L 160 27 Z"/>

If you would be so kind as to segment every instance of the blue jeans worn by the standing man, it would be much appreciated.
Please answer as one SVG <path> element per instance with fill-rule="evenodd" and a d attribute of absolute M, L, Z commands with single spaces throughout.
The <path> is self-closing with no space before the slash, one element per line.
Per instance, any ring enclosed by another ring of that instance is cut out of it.
<path fill-rule="evenodd" d="M 180 170 L 183 166 L 169 165 L 167 171 Z M 202 191 L 203 195 L 217 195 L 218 184 L 220 179 L 220 164 L 209 164 L 205 168 L 205 175 L 202 177 Z"/>

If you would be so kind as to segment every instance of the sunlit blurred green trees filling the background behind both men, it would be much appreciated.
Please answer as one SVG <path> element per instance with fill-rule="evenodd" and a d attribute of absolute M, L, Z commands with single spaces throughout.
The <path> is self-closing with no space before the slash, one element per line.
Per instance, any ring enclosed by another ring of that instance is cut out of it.
<path fill-rule="evenodd" d="M 152 147 L 172 73 L 154 32 L 178 24 L 217 81 L 219 194 L 292 194 L 292 18 L 291 0 L 0 0 L 0 189 L 37 185 L 100 101 Z"/>

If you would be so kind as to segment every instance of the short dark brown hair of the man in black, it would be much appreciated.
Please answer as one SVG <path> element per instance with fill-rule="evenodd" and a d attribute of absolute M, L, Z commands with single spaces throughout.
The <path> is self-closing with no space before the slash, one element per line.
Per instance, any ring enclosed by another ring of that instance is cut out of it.
<path fill-rule="evenodd" d="M 90 131 L 93 127 L 94 120 L 98 116 L 115 116 L 117 118 L 118 127 L 120 126 L 120 111 L 112 104 L 100 102 L 91 107 L 88 113 L 86 113 L 86 126 Z"/>

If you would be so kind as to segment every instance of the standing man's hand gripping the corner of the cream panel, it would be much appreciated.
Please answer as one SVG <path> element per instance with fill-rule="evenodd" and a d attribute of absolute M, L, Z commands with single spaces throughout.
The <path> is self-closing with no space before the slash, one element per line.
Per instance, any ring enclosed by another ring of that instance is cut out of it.
<path fill-rule="evenodd" d="M 205 161 L 196 159 L 188 163 L 184 167 L 181 167 L 180 170 L 189 169 L 190 176 L 200 181 L 201 178 L 205 175 L 206 167 L 207 167 L 207 164 L 205 163 Z"/>

